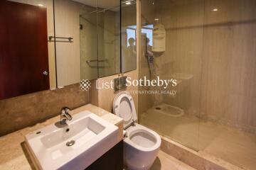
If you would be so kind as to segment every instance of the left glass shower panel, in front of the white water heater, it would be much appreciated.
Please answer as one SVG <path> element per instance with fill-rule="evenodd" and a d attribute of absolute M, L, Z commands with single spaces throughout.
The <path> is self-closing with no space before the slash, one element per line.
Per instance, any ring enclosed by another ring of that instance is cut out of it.
<path fill-rule="evenodd" d="M 139 95 L 139 121 L 159 134 L 198 150 L 204 6 L 201 0 L 142 0 L 139 78 L 175 79 L 176 86 L 140 87 L 160 91 Z M 159 44 L 156 30 L 165 31 Z M 158 50 L 164 47 L 165 50 Z M 161 91 L 169 91 L 163 93 Z"/>

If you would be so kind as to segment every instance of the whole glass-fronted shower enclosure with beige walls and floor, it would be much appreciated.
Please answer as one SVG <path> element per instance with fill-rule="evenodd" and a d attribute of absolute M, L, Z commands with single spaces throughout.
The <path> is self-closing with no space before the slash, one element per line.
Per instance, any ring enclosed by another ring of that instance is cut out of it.
<path fill-rule="evenodd" d="M 256 1 L 142 0 L 139 123 L 244 169 L 256 163 Z M 165 30 L 157 51 L 154 31 Z"/>

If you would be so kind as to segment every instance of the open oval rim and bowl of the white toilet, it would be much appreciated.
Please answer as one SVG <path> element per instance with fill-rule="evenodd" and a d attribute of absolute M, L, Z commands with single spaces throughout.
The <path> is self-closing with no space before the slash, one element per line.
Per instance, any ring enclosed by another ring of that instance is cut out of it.
<path fill-rule="evenodd" d="M 135 126 L 127 128 L 124 142 L 140 151 L 150 152 L 160 147 L 161 137 L 153 130 L 135 123 Z"/>

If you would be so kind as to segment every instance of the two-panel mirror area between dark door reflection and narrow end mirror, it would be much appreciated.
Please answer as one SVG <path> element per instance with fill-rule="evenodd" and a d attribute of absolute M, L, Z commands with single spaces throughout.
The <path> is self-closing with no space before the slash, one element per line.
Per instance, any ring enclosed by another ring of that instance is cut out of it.
<path fill-rule="evenodd" d="M 120 1 L 55 0 L 54 6 L 58 86 L 120 73 Z"/>

